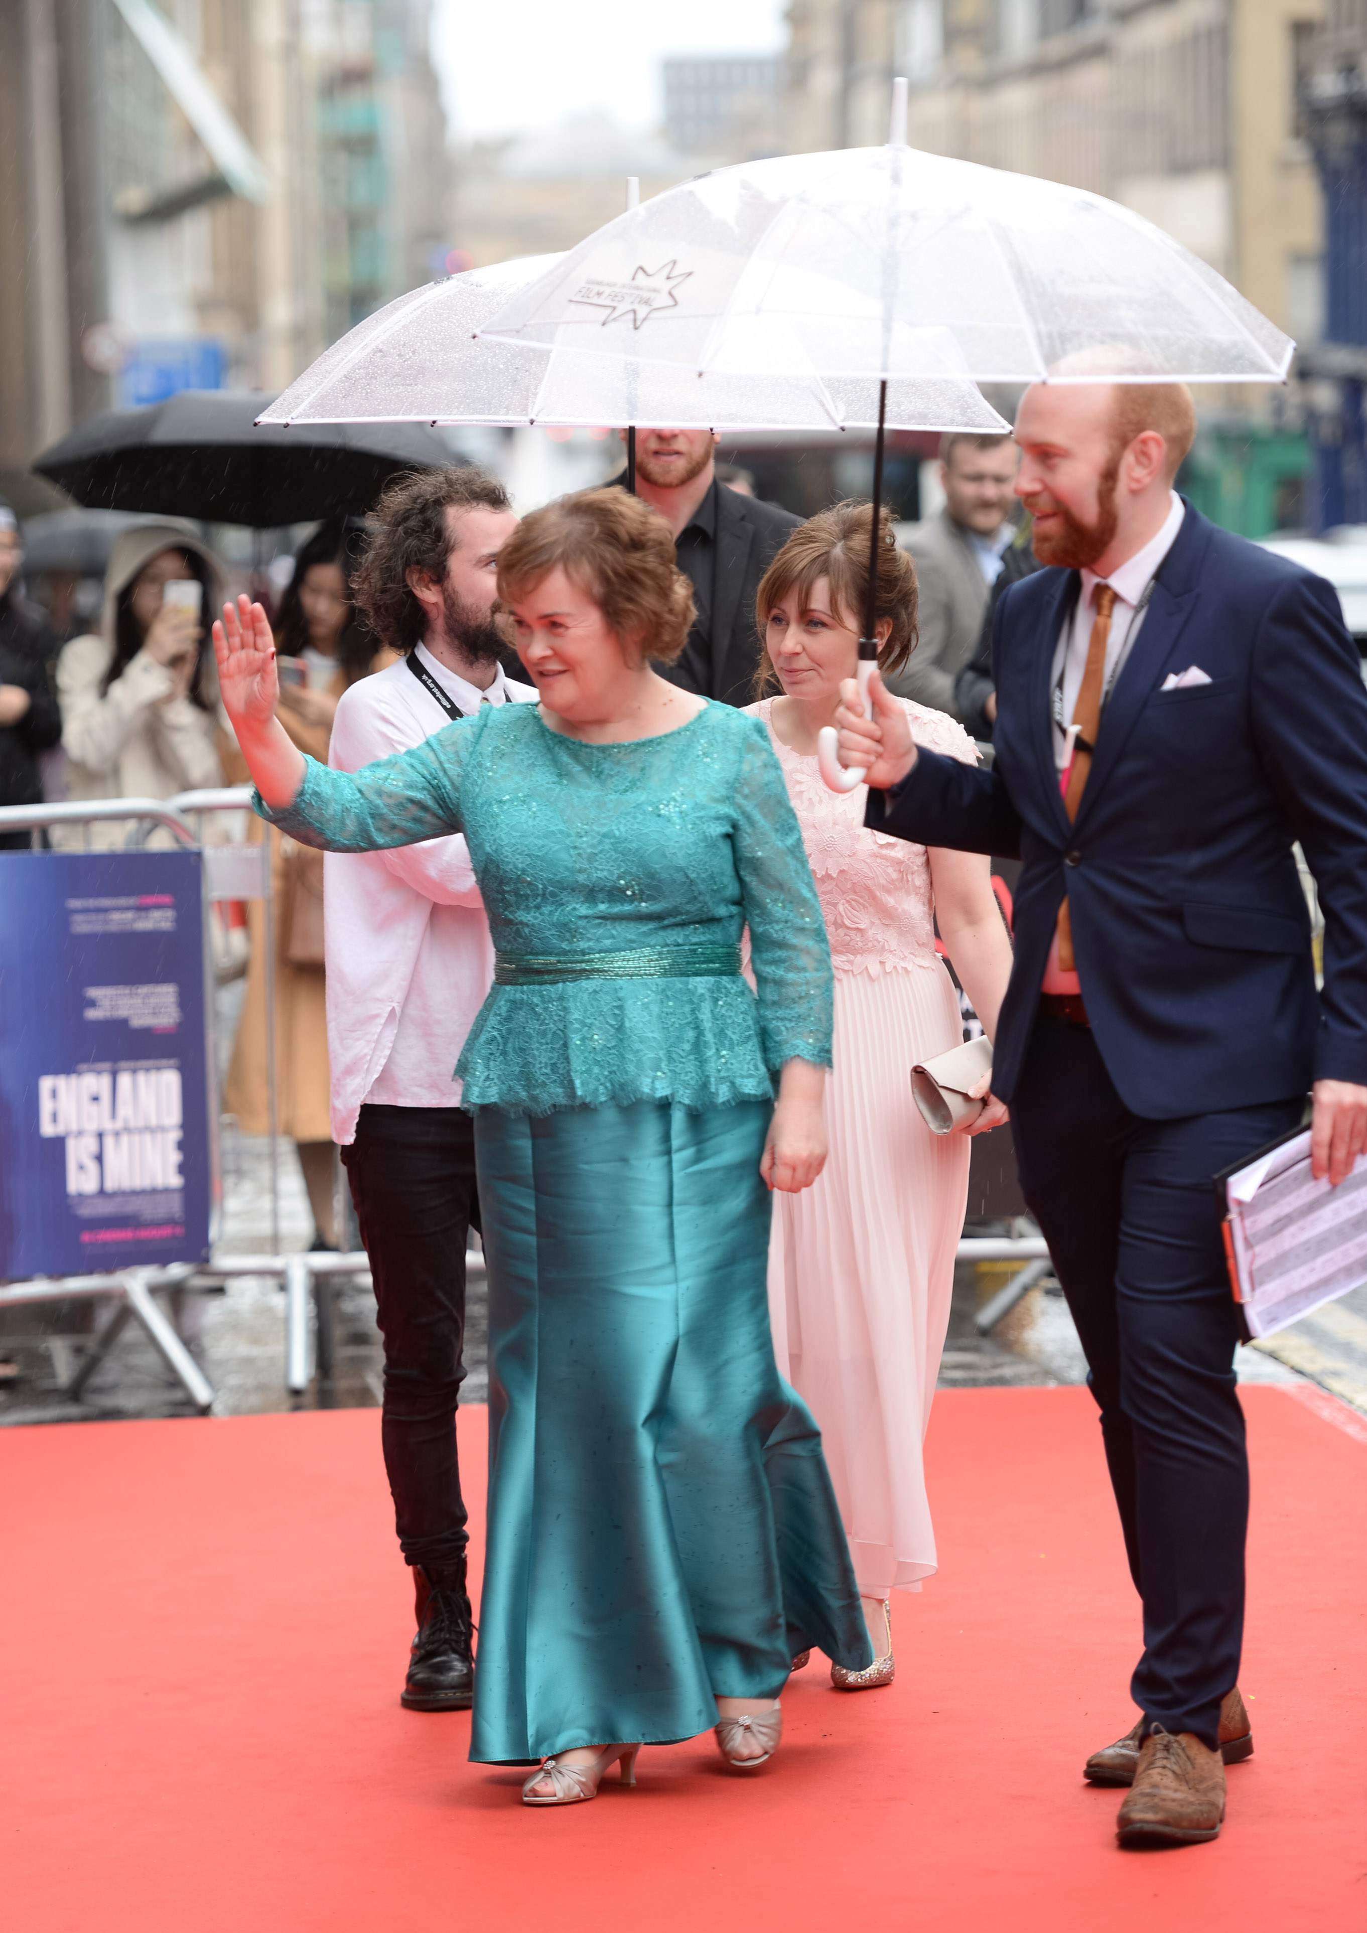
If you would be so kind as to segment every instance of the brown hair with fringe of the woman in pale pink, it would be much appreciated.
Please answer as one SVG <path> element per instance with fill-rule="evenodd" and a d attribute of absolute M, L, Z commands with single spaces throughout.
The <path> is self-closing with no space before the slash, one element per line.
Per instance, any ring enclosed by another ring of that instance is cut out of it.
<path fill-rule="evenodd" d="M 822 510 L 800 530 L 795 530 L 760 580 L 754 599 L 760 638 L 768 628 L 770 613 L 783 603 L 789 591 L 806 599 L 822 578 L 829 578 L 831 611 L 860 632 L 868 605 L 868 537 L 872 528 L 874 506 L 847 501 L 837 503 L 833 510 Z M 887 642 L 878 651 L 878 669 L 887 675 L 901 671 L 916 649 L 916 566 L 905 551 L 897 549 L 891 510 L 884 508 L 878 518 L 874 619 L 891 620 Z M 764 698 L 773 684 L 777 684 L 777 675 L 768 649 L 764 649 L 760 669 L 754 675 L 756 698 Z"/>

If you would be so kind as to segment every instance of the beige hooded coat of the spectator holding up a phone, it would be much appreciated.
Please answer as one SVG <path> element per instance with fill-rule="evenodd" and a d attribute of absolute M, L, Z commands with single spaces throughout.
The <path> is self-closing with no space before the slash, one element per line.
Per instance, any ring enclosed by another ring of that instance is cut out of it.
<path fill-rule="evenodd" d="M 120 593 L 143 564 L 160 551 L 193 551 L 209 566 L 211 603 L 222 593 L 222 578 L 211 551 L 180 524 L 139 524 L 126 530 L 110 557 L 104 578 L 104 611 L 99 632 L 72 638 L 56 667 L 62 706 L 62 746 L 70 758 L 68 793 L 83 798 L 172 798 L 197 787 L 222 785 L 222 731 L 226 717 L 218 706 L 218 678 L 205 667 L 205 690 L 213 709 L 203 711 L 189 698 L 160 700 L 172 688 L 172 675 L 147 651 L 139 651 L 102 692 L 104 673 L 114 657 L 114 615 Z M 209 622 L 211 613 L 205 613 Z M 131 820 L 106 820 L 89 827 L 95 849 L 122 847 Z M 81 827 L 58 827 L 54 845 L 79 849 Z M 153 845 L 174 843 L 170 833 L 155 833 Z"/>

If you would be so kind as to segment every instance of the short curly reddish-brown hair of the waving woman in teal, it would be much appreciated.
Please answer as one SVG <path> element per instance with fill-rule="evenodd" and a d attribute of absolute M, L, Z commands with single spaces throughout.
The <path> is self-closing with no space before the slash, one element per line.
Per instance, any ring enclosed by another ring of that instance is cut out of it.
<path fill-rule="evenodd" d="M 694 603 L 657 510 L 615 485 L 532 510 L 499 551 L 499 597 L 516 603 L 557 566 L 594 599 L 628 659 L 673 665 Z"/>

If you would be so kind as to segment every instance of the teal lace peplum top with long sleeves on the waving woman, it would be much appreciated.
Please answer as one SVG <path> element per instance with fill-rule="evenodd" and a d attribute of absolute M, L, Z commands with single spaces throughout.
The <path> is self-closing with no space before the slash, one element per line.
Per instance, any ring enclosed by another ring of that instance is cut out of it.
<path fill-rule="evenodd" d="M 626 744 L 485 707 L 360 773 L 307 760 L 294 802 L 257 812 L 331 852 L 466 835 L 499 953 L 456 1067 L 472 1111 L 710 1108 L 770 1096 L 787 1059 L 829 1067 L 802 835 L 764 725 L 729 706 Z"/>

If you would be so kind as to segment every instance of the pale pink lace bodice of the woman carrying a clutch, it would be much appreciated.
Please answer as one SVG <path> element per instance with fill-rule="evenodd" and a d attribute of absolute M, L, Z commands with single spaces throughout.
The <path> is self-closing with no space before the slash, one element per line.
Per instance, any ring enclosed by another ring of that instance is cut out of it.
<path fill-rule="evenodd" d="M 973 738 L 944 711 L 899 700 L 911 717 L 916 744 L 974 765 Z M 831 965 L 837 974 L 905 972 L 936 965 L 934 893 L 924 847 L 887 833 L 868 831 L 868 787 L 829 793 L 814 758 L 791 752 L 773 731 L 766 698 L 748 706 L 770 727 L 789 798 L 802 827 L 802 843 L 826 914 Z"/>

